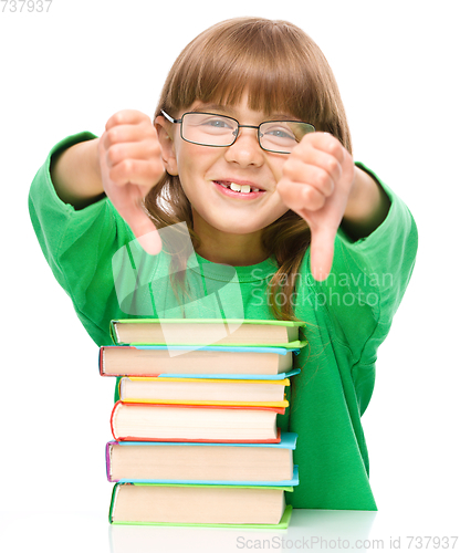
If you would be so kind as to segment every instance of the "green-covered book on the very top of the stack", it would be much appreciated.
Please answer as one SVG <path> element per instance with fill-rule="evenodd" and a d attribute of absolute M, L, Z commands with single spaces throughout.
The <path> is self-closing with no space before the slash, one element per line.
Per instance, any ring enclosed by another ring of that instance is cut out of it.
<path fill-rule="evenodd" d="M 111 322 L 117 345 L 303 347 L 304 322 L 251 319 L 122 319 Z"/>

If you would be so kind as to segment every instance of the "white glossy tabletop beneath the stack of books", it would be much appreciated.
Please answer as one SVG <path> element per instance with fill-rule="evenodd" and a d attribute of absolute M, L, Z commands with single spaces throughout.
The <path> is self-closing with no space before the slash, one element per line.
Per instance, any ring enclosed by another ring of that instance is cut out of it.
<path fill-rule="evenodd" d="M 425 514 L 424 514 L 425 513 Z M 460 551 L 451 536 L 459 534 L 458 513 L 426 510 L 410 512 L 321 511 L 294 509 L 285 531 L 244 531 L 180 526 L 109 525 L 107 513 L 3 512 L 0 522 L 2 552 L 151 553 L 237 551 Z M 425 536 L 449 536 L 435 547 Z M 424 536 L 417 547 L 410 536 Z M 410 546 L 409 546 L 410 545 Z M 452 547 L 454 545 L 454 547 Z"/>

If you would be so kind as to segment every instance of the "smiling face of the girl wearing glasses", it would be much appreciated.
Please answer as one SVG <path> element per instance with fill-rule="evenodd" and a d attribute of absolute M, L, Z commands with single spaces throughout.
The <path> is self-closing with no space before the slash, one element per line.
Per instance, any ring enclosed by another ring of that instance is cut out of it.
<path fill-rule="evenodd" d="M 259 125 L 290 114 L 264 114 L 248 107 L 247 98 L 236 106 L 218 106 L 195 102 L 185 111 L 202 111 L 229 115 L 241 125 Z M 181 114 L 178 114 L 180 118 Z M 190 144 L 180 137 L 180 125 L 165 125 L 171 140 L 160 140 L 170 175 L 179 175 L 184 191 L 194 212 L 194 230 L 231 234 L 249 234 L 261 231 L 288 211 L 276 184 L 281 179 L 285 154 L 263 150 L 255 128 L 240 128 L 234 144 L 228 147 L 210 147 Z M 260 192 L 245 196 L 231 192 L 231 182 L 259 188 Z"/>

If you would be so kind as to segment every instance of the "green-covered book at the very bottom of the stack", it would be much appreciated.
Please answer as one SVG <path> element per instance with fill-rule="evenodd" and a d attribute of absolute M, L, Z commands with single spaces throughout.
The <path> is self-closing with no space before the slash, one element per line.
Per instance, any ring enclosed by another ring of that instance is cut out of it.
<path fill-rule="evenodd" d="M 285 529 L 292 507 L 282 486 L 117 483 L 111 524 Z"/>

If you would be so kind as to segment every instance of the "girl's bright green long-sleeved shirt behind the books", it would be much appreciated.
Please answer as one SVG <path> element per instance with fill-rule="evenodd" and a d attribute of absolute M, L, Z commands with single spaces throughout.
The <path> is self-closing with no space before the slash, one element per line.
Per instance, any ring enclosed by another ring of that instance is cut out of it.
<path fill-rule="evenodd" d="M 153 275 L 153 283 L 143 285 L 137 279 L 137 296 L 128 298 L 119 282 L 114 282 L 116 271 L 127 271 L 125 283 L 129 274 L 136 278 L 139 252 L 133 250 L 133 232 L 107 198 L 75 210 L 56 196 L 50 176 L 51 155 L 91 138 L 94 135 L 82 133 L 53 148 L 32 182 L 29 208 L 55 278 L 71 296 L 90 336 L 97 345 L 106 345 L 112 343 L 113 319 L 177 316 L 178 312 L 164 276 L 169 258 L 163 253 L 149 258 L 146 274 Z M 386 185 L 380 185 L 391 204 L 385 221 L 357 241 L 338 230 L 326 281 L 312 278 L 309 249 L 299 271 L 295 315 L 306 322 L 301 338 L 309 345 L 294 356 L 301 374 L 292 377 L 286 388 L 290 407 L 279 416 L 282 430 L 299 435 L 294 462 L 300 468 L 300 484 L 286 494 L 294 508 L 376 510 L 360 416 L 373 393 L 377 348 L 388 334 L 417 251 L 412 216 Z M 119 258 L 119 252 L 126 255 Z M 251 267 L 229 268 L 192 254 L 187 272 L 200 288 L 200 302 L 186 303 L 184 316 L 220 316 L 223 309 L 231 317 L 226 310 L 240 302 L 234 309 L 241 309 L 244 319 L 274 319 L 265 289 L 275 270 L 272 258 Z"/>

